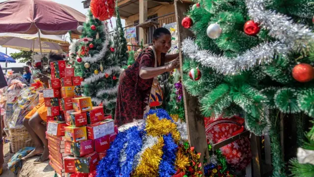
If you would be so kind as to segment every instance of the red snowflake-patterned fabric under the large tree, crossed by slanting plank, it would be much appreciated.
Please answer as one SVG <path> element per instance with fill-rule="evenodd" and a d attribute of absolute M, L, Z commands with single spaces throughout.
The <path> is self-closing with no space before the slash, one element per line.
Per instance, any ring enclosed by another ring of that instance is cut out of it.
<path fill-rule="evenodd" d="M 240 117 L 219 118 L 210 120 L 205 118 L 206 136 L 213 144 L 226 140 L 244 130 L 244 119 Z M 242 137 L 233 143 L 220 148 L 231 167 L 243 170 L 251 163 L 251 145 L 248 137 Z"/>

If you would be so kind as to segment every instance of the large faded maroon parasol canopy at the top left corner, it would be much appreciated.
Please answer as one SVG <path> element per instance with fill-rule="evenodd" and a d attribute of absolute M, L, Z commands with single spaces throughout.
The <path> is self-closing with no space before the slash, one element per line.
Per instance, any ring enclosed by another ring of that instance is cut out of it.
<path fill-rule="evenodd" d="M 0 9 L 0 32 L 66 34 L 85 22 L 84 14 L 52 0 L 7 0 Z"/>

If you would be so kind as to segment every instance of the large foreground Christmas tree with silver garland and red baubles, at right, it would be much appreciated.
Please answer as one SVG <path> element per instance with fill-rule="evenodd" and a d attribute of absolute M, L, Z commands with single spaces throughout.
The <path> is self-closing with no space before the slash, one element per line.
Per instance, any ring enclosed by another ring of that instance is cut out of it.
<path fill-rule="evenodd" d="M 268 127 L 273 176 L 286 176 L 279 115 L 314 117 L 313 0 L 202 0 L 186 15 L 185 88 L 206 117 L 242 115 L 256 135 Z"/>

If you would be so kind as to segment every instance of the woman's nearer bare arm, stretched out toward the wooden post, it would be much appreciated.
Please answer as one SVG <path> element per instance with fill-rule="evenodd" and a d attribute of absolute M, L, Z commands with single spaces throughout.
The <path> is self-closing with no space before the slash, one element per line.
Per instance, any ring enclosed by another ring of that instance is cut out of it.
<path fill-rule="evenodd" d="M 179 58 L 173 60 L 170 64 L 166 66 L 160 66 L 160 67 L 141 67 L 139 71 L 139 77 L 142 79 L 152 79 L 164 72 L 172 71 L 174 68 L 177 68 L 180 66 Z"/>

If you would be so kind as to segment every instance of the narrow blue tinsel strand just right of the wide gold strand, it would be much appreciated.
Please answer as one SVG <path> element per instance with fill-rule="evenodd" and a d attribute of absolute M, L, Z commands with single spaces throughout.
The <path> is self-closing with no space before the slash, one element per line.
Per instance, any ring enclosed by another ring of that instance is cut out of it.
<path fill-rule="evenodd" d="M 162 148 L 163 155 L 162 160 L 159 164 L 159 177 L 171 177 L 176 173 L 175 161 L 176 161 L 176 151 L 178 145 L 176 145 L 172 134 L 163 136 L 164 146 Z"/>

